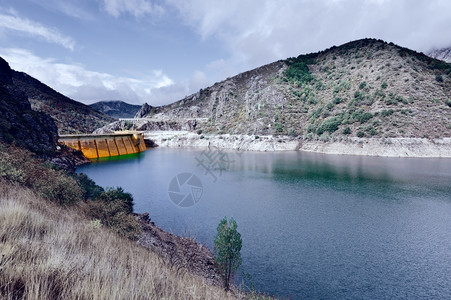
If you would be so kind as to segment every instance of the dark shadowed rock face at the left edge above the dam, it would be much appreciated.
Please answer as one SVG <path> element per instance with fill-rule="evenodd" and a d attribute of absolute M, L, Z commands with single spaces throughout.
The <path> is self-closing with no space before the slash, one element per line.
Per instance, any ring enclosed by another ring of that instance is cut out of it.
<path fill-rule="evenodd" d="M 53 119 L 33 111 L 28 98 L 13 84 L 9 64 L 0 58 L 0 141 L 50 157 L 56 151 Z"/>

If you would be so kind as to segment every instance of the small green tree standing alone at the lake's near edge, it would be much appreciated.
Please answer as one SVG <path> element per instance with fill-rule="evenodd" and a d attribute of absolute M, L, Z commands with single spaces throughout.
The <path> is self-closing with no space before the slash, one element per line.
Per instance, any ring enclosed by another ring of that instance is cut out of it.
<path fill-rule="evenodd" d="M 216 262 L 226 291 L 230 288 L 233 274 L 241 265 L 242 241 L 241 234 L 236 230 L 237 227 L 233 218 L 230 218 L 230 222 L 227 224 L 227 217 L 224 217 L 218 225 L 218 233 L 215 237 Z"/>

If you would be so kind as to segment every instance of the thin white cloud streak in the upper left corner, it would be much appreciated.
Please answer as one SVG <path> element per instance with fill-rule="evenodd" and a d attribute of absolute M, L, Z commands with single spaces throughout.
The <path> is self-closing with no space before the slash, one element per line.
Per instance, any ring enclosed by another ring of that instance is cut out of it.
<path fill-rule="evenodd" d="M 38 22 L 20 18 L 15 13 L 0 14 L 0 29 L 42 38 L 49 43 L 58 44 L 71 51 L 75 47 L 75 41 L 71 37 L 65 36 L 58 30 L 46 27 Z"/>

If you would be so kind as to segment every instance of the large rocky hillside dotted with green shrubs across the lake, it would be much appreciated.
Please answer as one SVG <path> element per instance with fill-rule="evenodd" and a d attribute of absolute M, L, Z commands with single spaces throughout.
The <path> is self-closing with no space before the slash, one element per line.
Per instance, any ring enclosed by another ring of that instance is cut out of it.
<path fill-rule="evenodd" d="M 363 39 L 239 74 L 147 117 L 135 128 L 326 142 L 451 137 L 451 64 Z"/>

